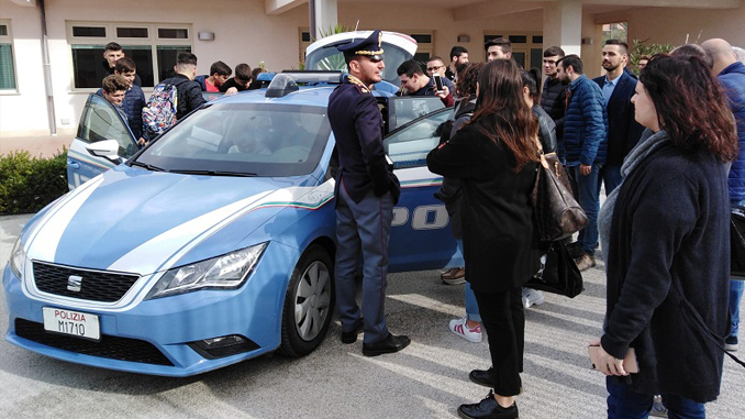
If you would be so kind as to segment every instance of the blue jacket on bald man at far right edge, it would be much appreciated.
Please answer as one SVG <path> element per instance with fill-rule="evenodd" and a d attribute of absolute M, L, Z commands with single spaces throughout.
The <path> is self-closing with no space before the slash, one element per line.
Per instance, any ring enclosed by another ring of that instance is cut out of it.
<path fill-rule="evenodd" d="M 732 162 L 727 178 L 730 201 L 735 203 L 745 200 L 745 65 L 741 62 L 731 64 L 718 78 L 730 99 L 730 107 L 737 122 L 740 155 Z"/>

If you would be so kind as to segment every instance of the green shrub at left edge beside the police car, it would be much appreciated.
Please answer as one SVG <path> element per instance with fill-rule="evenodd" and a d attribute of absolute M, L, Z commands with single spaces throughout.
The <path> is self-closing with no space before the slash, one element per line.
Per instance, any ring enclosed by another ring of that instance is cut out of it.
<path fill-rule="evenodd" d="M 36 212 L 67 194 L 67 150 L 52 158 L 26 151 L 0 156 L 0 214 Z"/>

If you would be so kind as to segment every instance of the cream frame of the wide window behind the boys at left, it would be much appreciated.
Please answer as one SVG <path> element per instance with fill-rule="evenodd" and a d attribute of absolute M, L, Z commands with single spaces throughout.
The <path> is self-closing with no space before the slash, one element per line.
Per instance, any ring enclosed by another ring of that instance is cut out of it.
<path fill-rule="evenodd" d="M 66 23 L 66 36 L 67 36 L 67 47 L 68 47 L 68 57 L 70 63 L 70 92 L 74 93 L 91 93 L 96 92 L 99 87 L 76 87 L 75 85 L 75 63 L 73 59 L 73 45 L 93 45 L 101 47 L 110 42 L 115 42 L 124 49 L 127 46 L 149 46 L 152 54 L 152 65 L 153 68 L 153 87 L 143 87 L 144 91 L 151 92 L 154 90 L 155 86 L 158 85 L 162 80 L 159 75 L 162 68 L 158 66 L 158 47 L 159 46 L 188 46 L 192 52 L 194 51 L 194 30 L 193 24 L 191 23 L 146 23 L 146 22 L 90 22 L 90 21 L 67 21 Z M 74 36 L 73 27 L 74 26 L 88 26 L 88 27 L 104 27 L 105 36 Z M 133 27 L 133 29 L 147 29 L 147 37 L 120 37 L 118 36 L 118 27 Z M 162 38 L 159 37 L 158 30 L 160 29 L 176 29 L 176 30 L 187 30 L 186 38 Z M 103 59 L 101 57 L 101 59 Z M 18 81 L 16 81 L 18 84 Z"/>

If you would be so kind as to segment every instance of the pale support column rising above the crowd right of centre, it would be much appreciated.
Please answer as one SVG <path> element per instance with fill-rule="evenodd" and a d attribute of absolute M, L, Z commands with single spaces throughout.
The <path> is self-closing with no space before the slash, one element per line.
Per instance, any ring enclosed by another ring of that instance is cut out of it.
<path fill-rule="evenodd" d="M 582 47 L 582 3 L 557 1 L 543 9 L 544 49 L 558 45 L 564 52 L 580 55 Z"/>

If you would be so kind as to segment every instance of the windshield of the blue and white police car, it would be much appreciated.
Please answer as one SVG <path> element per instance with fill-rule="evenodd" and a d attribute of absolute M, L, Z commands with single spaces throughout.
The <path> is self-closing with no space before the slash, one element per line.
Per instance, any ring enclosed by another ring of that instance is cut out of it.
<path fill-rule="evenodd" d="M 318 166 L 330 132 L 325 108 L 208 104 L 165 133 L 135 165 L 194 174 L 307 175 Z"/>

